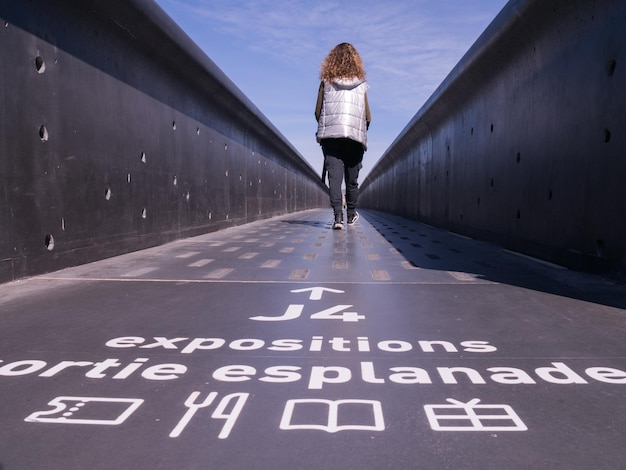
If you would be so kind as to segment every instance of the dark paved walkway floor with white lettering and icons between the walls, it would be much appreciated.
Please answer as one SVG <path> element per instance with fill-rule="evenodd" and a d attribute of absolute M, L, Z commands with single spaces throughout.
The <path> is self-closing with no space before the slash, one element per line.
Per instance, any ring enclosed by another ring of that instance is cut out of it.
<path fill-rule="evenodd" d="M 363 211 L 0 286 L 0 469 L 626 468 L 626 292 Z"/>

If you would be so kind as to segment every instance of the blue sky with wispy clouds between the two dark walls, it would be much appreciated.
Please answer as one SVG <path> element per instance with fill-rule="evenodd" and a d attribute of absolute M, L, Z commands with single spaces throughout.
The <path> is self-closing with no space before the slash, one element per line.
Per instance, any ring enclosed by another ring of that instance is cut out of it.
<path fill-rule="evenodd" d="M 372 124 L 364 176 L 507 0 L 157 0 L 315 170 L 319 65 L 359 51 Z"/>

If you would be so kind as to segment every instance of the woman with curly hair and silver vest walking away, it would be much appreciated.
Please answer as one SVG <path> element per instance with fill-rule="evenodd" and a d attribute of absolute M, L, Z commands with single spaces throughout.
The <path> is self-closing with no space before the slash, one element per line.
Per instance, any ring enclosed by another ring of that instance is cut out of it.
<path fill-rule="evenodd" d="M 354 46 L 344 42 L 333 47 L 320 66 L 320 78 L 315 107 L 317 141 L 322 146 L 324 169 L 328 172 L 330 205 L 335 215 L 333 229 L 341 230 L 344 179 L 348 225 L 359 218 L 358 178 L 371 121 L 363 61 Z"/>

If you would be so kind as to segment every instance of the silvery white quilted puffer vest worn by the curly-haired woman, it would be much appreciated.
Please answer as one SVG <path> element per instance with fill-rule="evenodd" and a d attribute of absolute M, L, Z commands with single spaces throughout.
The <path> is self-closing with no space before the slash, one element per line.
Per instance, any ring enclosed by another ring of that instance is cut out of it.
<path fill-rule="evenodd" d="M 367 122 L 365 119 L 365 92 L 367 82 L 336 79 L 324 82 L 324 101 L 317 124 L 317 141 L 347 137 L 361 142 L 367 149 Z"/>

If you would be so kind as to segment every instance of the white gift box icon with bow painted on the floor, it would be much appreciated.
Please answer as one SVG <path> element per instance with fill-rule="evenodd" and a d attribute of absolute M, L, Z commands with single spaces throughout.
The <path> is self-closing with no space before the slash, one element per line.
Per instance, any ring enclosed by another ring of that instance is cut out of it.
<path fill-rule="evenodd" d="M 448 405 L 425 405 L 424 411 L 434 431 L 527 431 L 528 428 L 509 405 L 479 405 L 480 400 L 464 403 L 448 398 Z"/>

